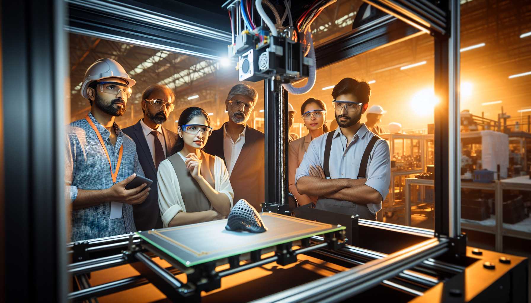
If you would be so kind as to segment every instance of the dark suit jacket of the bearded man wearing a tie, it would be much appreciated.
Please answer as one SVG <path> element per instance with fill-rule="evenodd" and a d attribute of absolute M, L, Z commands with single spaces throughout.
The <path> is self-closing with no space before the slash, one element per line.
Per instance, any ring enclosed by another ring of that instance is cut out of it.
<path fill-rule="evenodd" d="M 159 199 L 157 191 L 157 169 L 153 163 L 153 157 L 149 151 L 148 142 L 145 141 L 144 131 L 140 120 L 135 125 L 126 127 L 122 131 L 130 136 L 136 144 L 136 153 L 145 177 L 153 180 L 151 191 L 142 204 L 133 205 L 133 218 L 137 230 L 151 230 L 152 228 L 162 228 L 160 219 Z M 177 134 L 162 128 L 162 134 L 166 141 L 166 157 L 174 154 L 174 146 L 177 142 Z"/>

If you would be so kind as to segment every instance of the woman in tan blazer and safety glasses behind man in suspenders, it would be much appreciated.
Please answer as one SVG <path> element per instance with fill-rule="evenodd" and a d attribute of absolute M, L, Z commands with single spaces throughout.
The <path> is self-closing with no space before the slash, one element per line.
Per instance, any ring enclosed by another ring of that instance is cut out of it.
<path fill-rule="evenodd" d="M 310 142 L 320 135 L 328 132 L 327 127 L 327 106 L 323 101 L 310 98 L 304 101 L 301 106 L 302 118 L 304 126 L 308 128 L 308 134 L 304 137 L 293 140 L 289 143 L 289 192 L 292 193 L 299 205 L 306 205 L 309 203 L 315 204 L 318 197 L 301 195 L 297 192 L 295 187 L 295 171 L 301 165 L 304 153 L 308 149 Z"/>

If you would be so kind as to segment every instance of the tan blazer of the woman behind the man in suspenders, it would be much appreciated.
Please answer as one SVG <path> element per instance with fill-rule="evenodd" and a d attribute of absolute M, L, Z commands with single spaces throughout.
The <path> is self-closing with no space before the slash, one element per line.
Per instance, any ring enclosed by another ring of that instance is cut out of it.
<path fill-rule="evenodd" d="M 318 197 L 301 195 L 297 192 L 297 187 L 295 187 L 295 171 L 301 165 L 302 158 L 304 153 L 308 150 L 312 142 L 312 137 L 310 134 L 305 135 L 304 137 L 298 138 L 289 142 L 289 154 L 288 154 L 288 182 L 289 182 L 289 192 L 292 193 L 299 205 L 306 205 L 311 202 L 315 204 Z"/>

